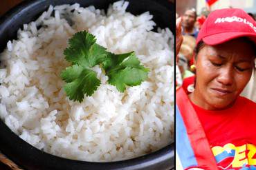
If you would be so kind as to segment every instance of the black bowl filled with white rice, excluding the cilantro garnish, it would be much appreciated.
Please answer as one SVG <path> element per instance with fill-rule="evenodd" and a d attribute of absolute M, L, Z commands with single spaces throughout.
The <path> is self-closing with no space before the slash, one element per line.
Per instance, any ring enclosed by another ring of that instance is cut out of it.
<path fill-rule="evenodd" d="M 174 167 L 174 3 L 168 0 L 24 1 L 0 19 L 0 151 L 23 169 Z M 61 72 L 73 34 L 149 68 L 119 92 L 101 84 L 70 100 Z"/>

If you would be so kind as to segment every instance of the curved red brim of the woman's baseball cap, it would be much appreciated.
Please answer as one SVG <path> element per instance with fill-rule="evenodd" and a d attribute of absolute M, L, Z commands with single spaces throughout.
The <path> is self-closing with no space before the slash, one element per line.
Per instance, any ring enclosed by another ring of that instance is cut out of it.
<path fill-rule="evenodd" d="M 256 45 L 256 34 L 248 32 L 223 32 L 218 34 L 212 34 L 210 36 L 204 37 L 203 42 L 208 45 L 218 45 L 239 37 L 248 37 Z"/>

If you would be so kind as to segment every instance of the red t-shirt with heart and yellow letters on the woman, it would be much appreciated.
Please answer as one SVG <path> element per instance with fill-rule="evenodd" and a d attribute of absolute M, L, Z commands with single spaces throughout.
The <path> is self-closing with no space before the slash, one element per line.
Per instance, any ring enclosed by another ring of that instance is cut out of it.
<path fill-rule="evenodd" d="M 221 111 L 192 105 L 219 169 L 256 169 L 256 104 L 239 96 L 233 107 Z"/>

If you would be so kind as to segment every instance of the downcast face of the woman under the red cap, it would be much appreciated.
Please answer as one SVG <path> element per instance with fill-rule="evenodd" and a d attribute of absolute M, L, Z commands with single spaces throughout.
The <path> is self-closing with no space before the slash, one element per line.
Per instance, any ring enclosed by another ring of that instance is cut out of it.
<path fill-rule="evenodd" d="M 191 100 L 204 109 L 230 107 L 253 72 L 254 48 L 244 39 L 204 45 L 195 61 L 196 88 Z"/>

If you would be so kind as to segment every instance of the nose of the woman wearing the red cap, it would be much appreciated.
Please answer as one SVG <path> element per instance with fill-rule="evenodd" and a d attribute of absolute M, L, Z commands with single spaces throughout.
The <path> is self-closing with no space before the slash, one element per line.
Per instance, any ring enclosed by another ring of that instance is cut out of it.
<path fill-rule="evenodd" d="M 232 85 L 233 83 L 233 70 L 231 66 L 223 67 L 219 70 L 217 81 L 223 85 Z"/>

